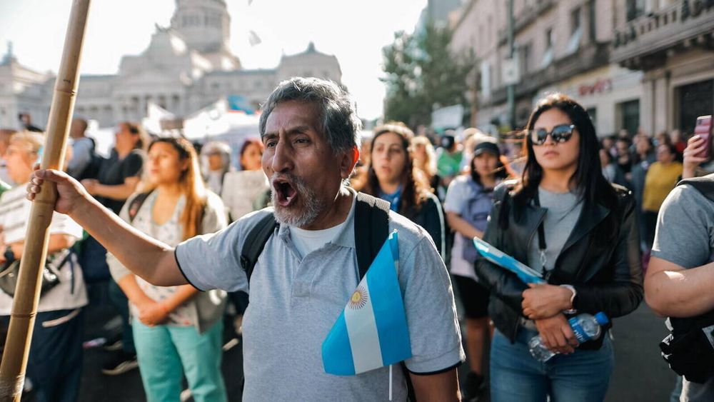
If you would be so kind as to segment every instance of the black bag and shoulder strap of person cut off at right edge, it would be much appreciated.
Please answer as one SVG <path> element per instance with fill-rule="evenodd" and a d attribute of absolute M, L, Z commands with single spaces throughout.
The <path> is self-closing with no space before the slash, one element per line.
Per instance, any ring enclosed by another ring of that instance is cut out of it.
<path fill-rule="evenodd" d="M 680 181 L 714 202 L 714 174 Z M 662 357 L 688 381 L 705 383 L 714 376 L 714 311 L 688 318 L 670 317 L 672 332 L 660 342 Z M 708 332 L 705 333 L 705 331 Z"/>

